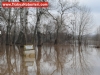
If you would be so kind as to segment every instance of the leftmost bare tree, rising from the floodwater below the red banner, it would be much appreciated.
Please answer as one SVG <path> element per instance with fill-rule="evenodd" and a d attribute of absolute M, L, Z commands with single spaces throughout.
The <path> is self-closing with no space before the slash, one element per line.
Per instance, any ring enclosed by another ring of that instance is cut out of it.
<path fill-rule="evenodd" d="M 10 44 L 11 43 L 11 29 L 12 26 L 15 23 L 16 20 L 16 16 L 18 13 L 18 9 L 2 9 L 1 14 L 3 17 L 3 21 L 5 22 L 5 26 L 6 26 L 6 44 Z"/>

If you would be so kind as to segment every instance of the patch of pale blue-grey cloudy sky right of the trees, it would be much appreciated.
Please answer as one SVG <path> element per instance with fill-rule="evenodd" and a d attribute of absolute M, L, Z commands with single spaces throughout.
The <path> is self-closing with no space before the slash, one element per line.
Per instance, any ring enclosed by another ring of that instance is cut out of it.
<path fill-rule="evenodd" d="M 93 15 L 93 25 L 96 30 L 98 26 L 100 26 L 100 0 L 79 0 L 81 5 L 86 5 L 91 9 L 91 13 Z"/>

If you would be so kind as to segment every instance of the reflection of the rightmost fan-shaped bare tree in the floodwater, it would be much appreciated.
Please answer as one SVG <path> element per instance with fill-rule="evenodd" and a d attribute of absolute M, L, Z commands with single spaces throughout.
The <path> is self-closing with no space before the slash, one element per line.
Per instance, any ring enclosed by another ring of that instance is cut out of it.
<path fill-rule="evenodd" d="M 75 47 L 76 49 L 76 47 Z M 73 70 L 73 75 L 90 75 L 90 63 L 87 60 L 87 51 L 85 47 L 79 45 L 77 49 L 73 52 L 73 62 L 71 64 L 71 69 Z"/>

